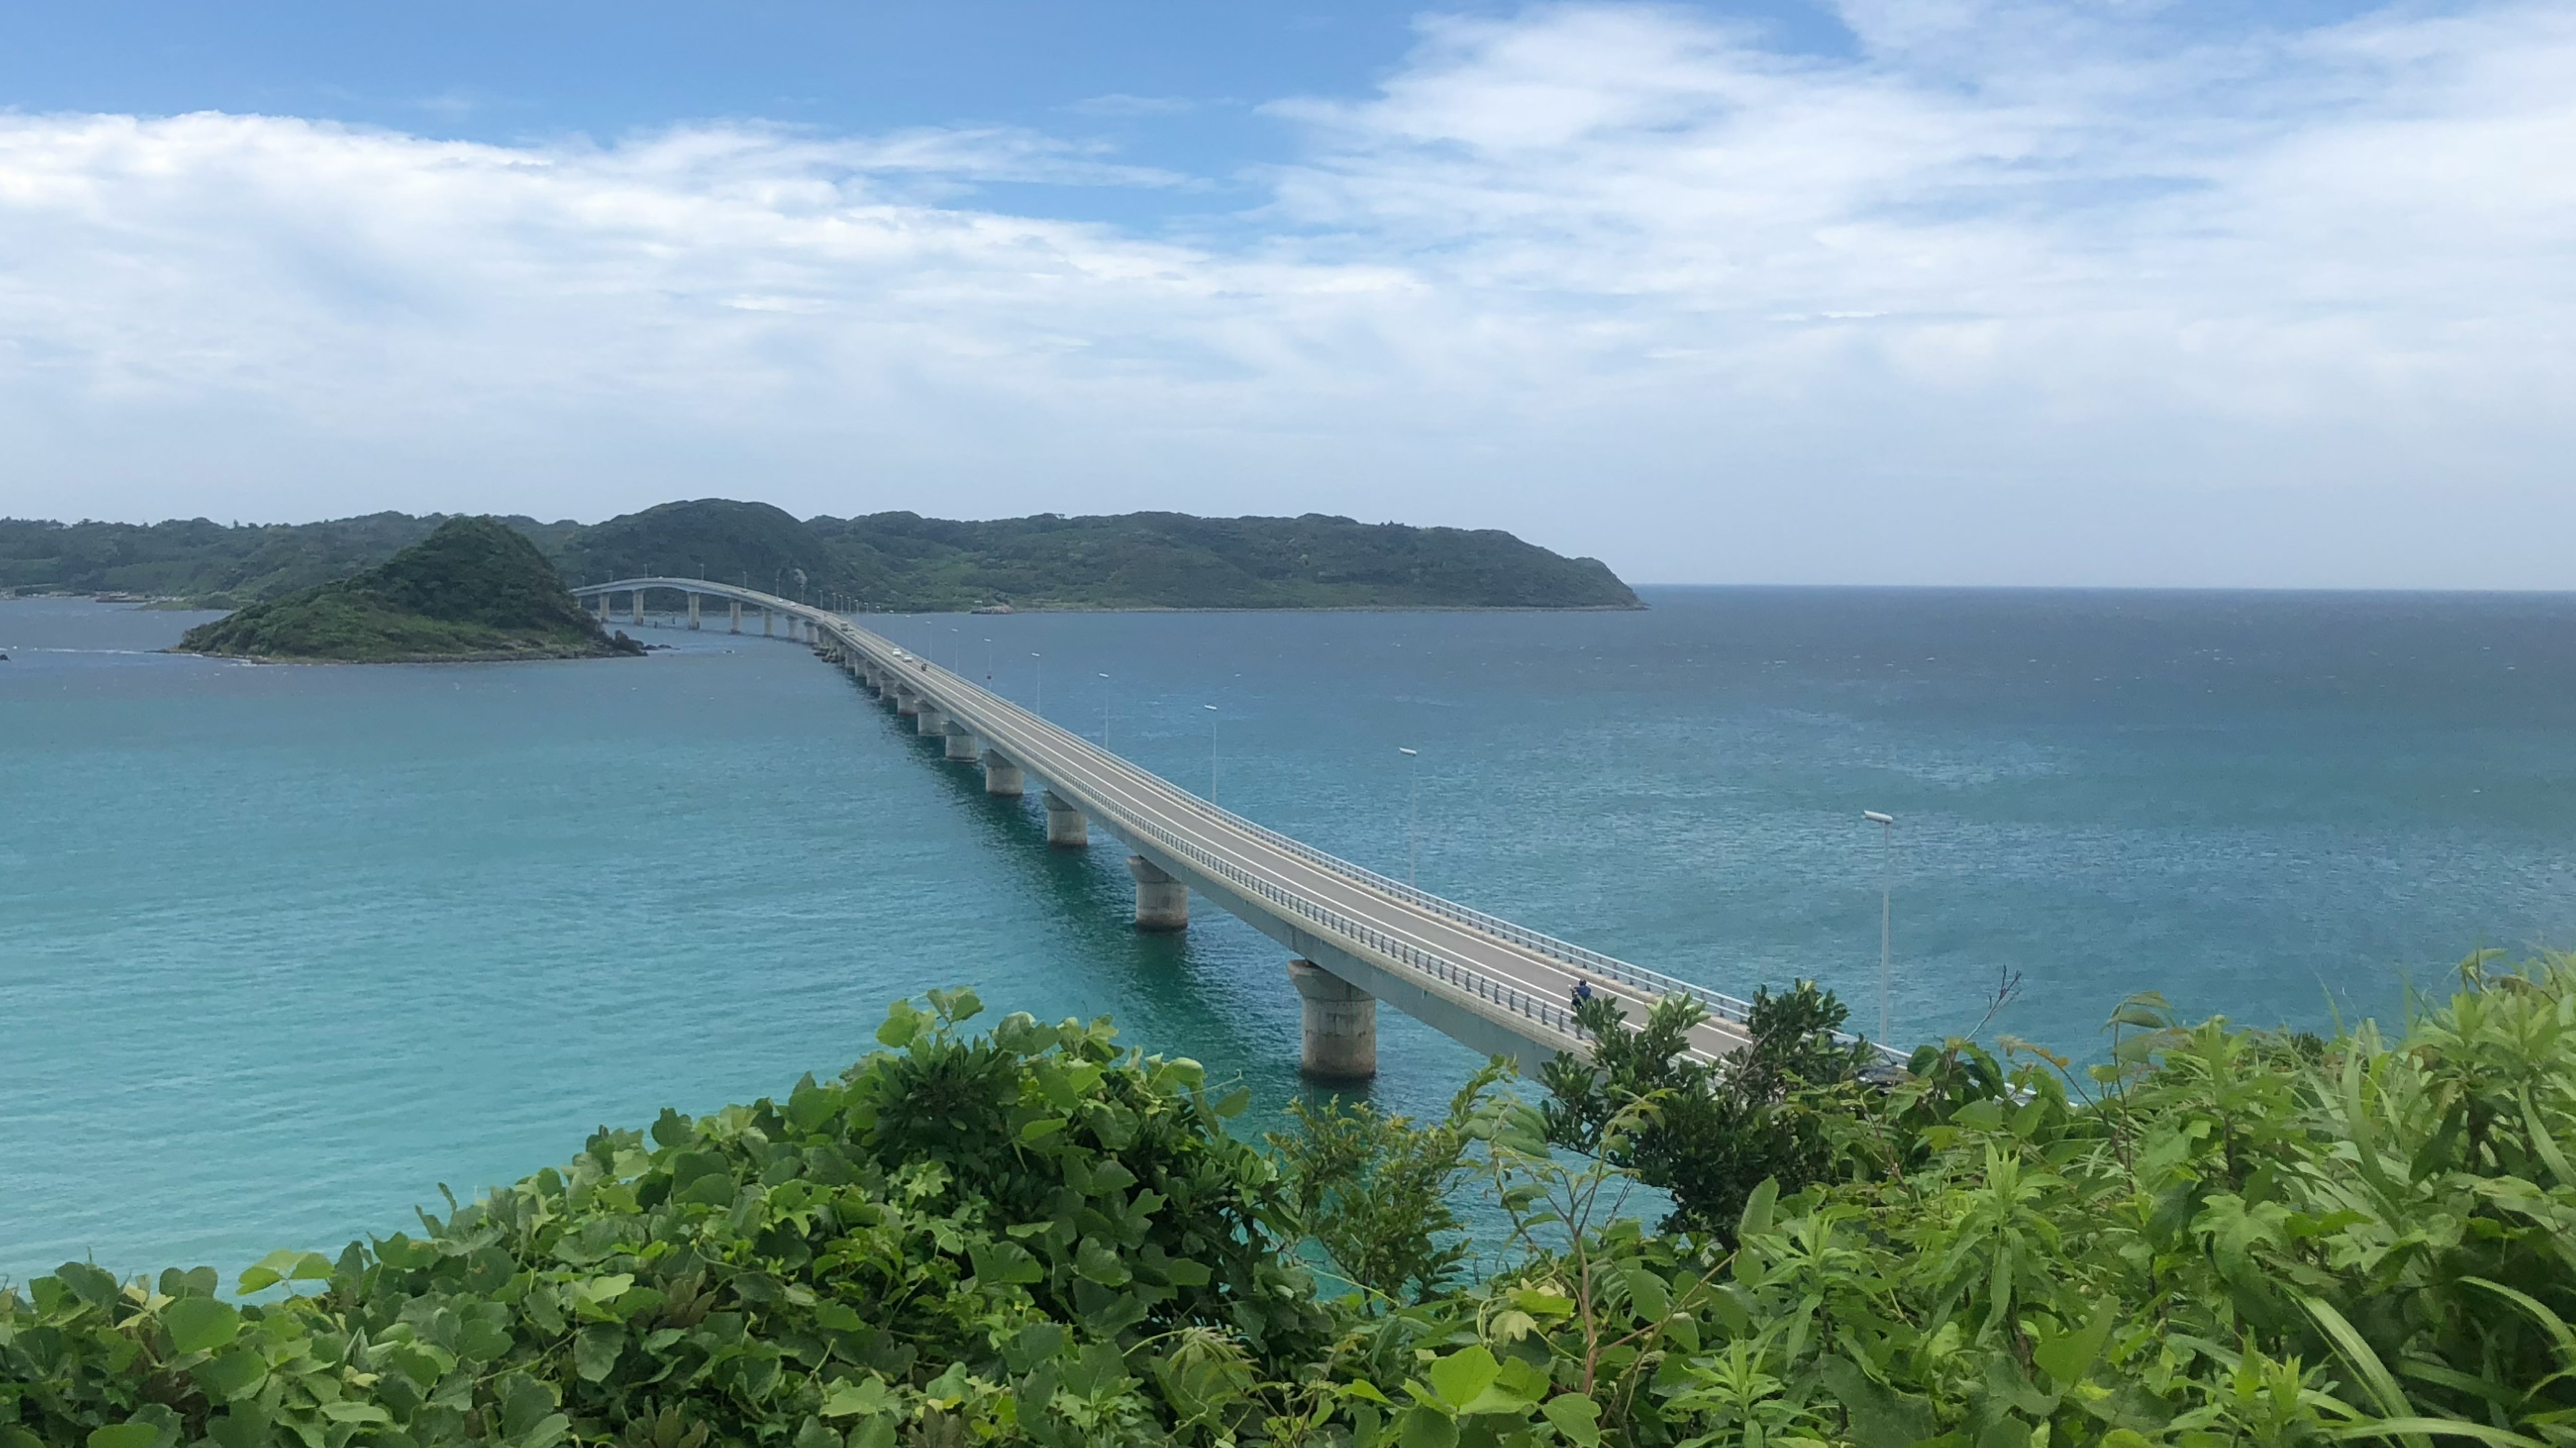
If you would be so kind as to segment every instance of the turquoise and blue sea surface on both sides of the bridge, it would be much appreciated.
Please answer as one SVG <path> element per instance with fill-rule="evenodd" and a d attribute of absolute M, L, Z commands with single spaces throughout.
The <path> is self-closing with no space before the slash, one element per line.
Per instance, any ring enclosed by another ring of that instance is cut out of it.
<path fill-rule="evenodd" d="M 2396 1018 L 2576 940 L 2576 598 L 1646 598 L 873 624 L 1352 861 L 1873 1033 L 1893 866 L 1901 1041 L 2084 1056 L 2146 989 Z M 1298 1092 L 1267 938 L 1139 935 L 1121 850 L 1048 850 L 801 647 L 157 652 L 198 618 L 0 603 L 0 1278 L 337 1250 L 832 1074 L 943 984 Z M 1476 1062 L 1386 1013 L 1381 1064 L 1437 1110 Z"/>

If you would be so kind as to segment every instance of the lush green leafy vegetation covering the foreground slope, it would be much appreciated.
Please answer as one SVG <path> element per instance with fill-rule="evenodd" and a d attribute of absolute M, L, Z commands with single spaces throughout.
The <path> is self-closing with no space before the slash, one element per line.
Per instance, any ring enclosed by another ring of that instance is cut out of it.
<path fill-rule="evenodd" d="M 935 992 L 837 1080 L 237 1296 L 5 1288 L 0 1445 L 2576 1443 L 2576 961 L 2470 958 L 2396 1038 L 2138 997 L 2099 1064 L 1950 1041 L 1883 1082 L 1777 1000 L 1728 1069 L 1762 1082 L 1494 1069 L 1265 1149 L 1193 1062 Z M 1808 1180 L 1636 1221 L 1620 1162 L 1690 1090 L 1798 1116 Z"/>

